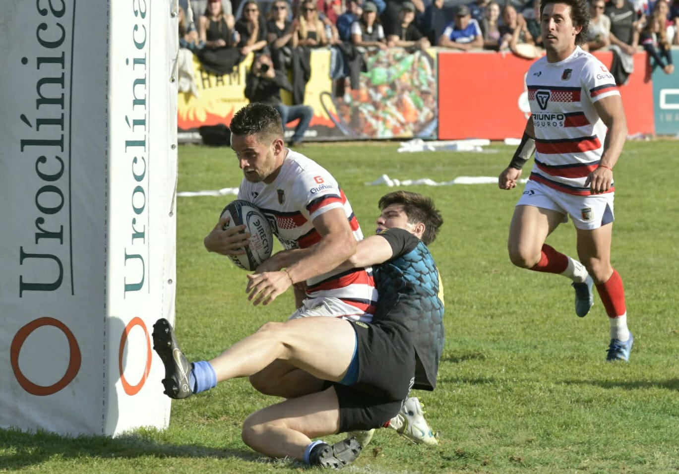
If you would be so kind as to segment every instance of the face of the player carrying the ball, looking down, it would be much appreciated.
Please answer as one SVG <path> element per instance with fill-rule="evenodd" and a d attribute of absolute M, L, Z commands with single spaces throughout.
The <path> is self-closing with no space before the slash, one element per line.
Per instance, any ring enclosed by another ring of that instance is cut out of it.
<path fill-rule="evenodd" d="M 231 147 L 245 179 L 251 183 L 272 183 L 278 176 L 283 160 L 281 139 L 261 143 L 256 135 L 232 135 Z"/>

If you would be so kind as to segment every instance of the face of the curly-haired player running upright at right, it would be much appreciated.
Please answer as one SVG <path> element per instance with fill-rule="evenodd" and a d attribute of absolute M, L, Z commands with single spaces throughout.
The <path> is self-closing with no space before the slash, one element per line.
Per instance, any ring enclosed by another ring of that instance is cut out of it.
<path fill-rule="evenodd" d="M 575 48 L 575 37 L 582 28 L 574 26 L 570 14 L 570 5 L 566 3 L 547 3 L 543 9 L 540 29 L 548 59 L 550 54 L 565 59 Z"/>

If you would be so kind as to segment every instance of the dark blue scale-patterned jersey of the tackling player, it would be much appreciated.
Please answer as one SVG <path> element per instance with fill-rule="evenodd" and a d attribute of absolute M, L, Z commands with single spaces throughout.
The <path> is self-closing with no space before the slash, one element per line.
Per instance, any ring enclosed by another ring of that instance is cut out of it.
<path fill-rule="evenodd" d="M 389 242 L 393 257 L 373 267 L 379 295 L 373 323 L 399 329 L 416 351 L 413 388 L 433 390 L 445 340 L 439 270 L 424 242 L 407 230 L 378 235 Z"/>

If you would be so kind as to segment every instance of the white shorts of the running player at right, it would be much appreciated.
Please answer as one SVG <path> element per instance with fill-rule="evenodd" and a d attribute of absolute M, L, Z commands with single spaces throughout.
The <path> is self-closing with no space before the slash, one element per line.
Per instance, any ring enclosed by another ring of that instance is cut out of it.
<path fill-rule="evenodd" d="M 606 194 L 591 194 L 589 196 L 574 196 L 529 180 L 524 187 L 517 206 L 534 206 L 551 209 L 564 214 L 564 223 L 568 216 L 573 219 L 575 227 L 582 230 L 598 229 L 614 221 L 613 198 L 614 192 Z"/>

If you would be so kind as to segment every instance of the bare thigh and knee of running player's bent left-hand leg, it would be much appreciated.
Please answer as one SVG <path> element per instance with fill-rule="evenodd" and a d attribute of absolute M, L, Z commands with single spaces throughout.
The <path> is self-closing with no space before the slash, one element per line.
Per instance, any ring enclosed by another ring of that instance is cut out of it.
<path fill-rule="evenodd" d="M 509 258 L 514 265 L 521 268 L 532 268 L 540 261 L 547 236 L 565 215 L 559 211 L 536 206 L 517 205 L 509 226 Z"/>

